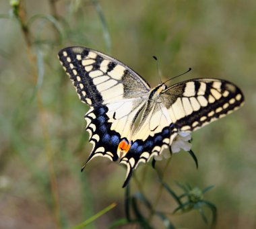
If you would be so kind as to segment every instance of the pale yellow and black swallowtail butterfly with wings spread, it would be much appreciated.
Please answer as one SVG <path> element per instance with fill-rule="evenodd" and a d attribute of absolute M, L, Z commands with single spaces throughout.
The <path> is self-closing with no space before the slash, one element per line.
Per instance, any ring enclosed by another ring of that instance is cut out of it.
<path fill-rule="evenodd" d="M 84 118 L 96 156 L 127 166 L 123 187 L 139 163 L 244 103 L 241 90 L 221 79 L 191 79 L 167 87 L 150 85 L 128 66 L 83 47 L 64 48 L 59 60 L 79 99 L 90 106 Z M 84 168 L 84 167 L 83 167 Z"/>

